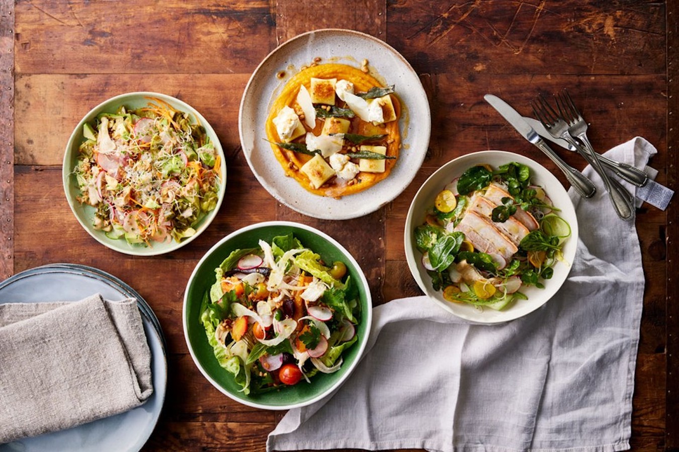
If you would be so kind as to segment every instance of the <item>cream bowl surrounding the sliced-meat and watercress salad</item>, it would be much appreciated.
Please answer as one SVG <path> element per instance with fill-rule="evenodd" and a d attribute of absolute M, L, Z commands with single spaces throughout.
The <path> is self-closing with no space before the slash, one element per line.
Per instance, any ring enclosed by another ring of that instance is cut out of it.
<path fill-rule="evenodd" d="M 544 289 L 537 287 L 521 287 L 521 292 L 528 296 L 528 300 L 517 300 L 504 310 L 483 309 L 479 310 L 471 304 L 448 302 L 443 298 L 441 291 L 435 291 L 432 287 L 432 280 L 427 274 L 426 269 L 422 265 L 422 253 L 417 249 L 414 241 L 414 230 L 421 224 L 424 224 L 426 211 L 431 209 L 434 205 L 436 195 L 443 190 L 443 188 L 458 178 L 466 169 L 475 165 L 488 163 L 494 168 L 504 165 L 505 163 L 517 162 L 530 167 L 532 182 L 545 189 L 549 198 L 553 201 L 553 205 L 561 209 L 559 216 L 564 218 L 570 225 L 571 234 L 564 243 L 563 253 L 564 262 L 557 262 L 554 266 L 554 275 L 551 279 L 543 281 Z M 437 169 L 420 187 L 415 195 L 408 215 L 405 220 L 405 255 L 407 258 L 410 272 L 413 274 L 415 281 L 420 286 L 420 289 L 432 298 L 439 306 L 453 314 L 476 323 L 500 323 L 517 319 L 543 306 L 562 286 L 570 266 L 575 257 L 575 251 L 578 243 L 578 220 L 575 215 L 575 209 L 568 193 L 562 186 L 561 182 L 554 177 L 545 167 L 513 152 L 505 152 L 501 150 L 485 150 L 481 152 L 473 152 L 462 157 L 458 157 L 449 161 L 441 168 Z"/>

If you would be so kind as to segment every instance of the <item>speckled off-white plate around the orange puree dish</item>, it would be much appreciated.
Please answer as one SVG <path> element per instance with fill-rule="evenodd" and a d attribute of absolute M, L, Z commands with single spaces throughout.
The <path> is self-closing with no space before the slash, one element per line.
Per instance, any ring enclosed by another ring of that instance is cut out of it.
<path fill-rule="evenodd" d="M 288 178 L 265 141 L 264 124 L 282 87 L 314 58 L 361 67 L 369 62 L 371 75 L 396 85 L 403 105 L 400 119 L 403 148 L 388 178 L 375 186 L 341 199 L 320 197 Z M 277 74 L 285 73 L 279 78 Z M 245 87 L 238 117 L 240 143 L 259 183 L 291 209 L 324 220 L 346 220 L 371 213 L 397 197 L 422 165 L 431 131 L 429 102 L 417 73 L 384 41 L 352 30 L 315 30 L 294 37 L 269 54 Z"/>

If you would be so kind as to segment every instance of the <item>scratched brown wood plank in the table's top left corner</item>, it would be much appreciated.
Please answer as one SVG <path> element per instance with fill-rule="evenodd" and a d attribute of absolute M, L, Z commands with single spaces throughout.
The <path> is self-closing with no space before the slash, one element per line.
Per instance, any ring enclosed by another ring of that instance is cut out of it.
<path fill-rule="evenodd" d="M 275 47 L 268 0 L 32 0 L 16 18 L 19 74 L 251 73 Z"/>

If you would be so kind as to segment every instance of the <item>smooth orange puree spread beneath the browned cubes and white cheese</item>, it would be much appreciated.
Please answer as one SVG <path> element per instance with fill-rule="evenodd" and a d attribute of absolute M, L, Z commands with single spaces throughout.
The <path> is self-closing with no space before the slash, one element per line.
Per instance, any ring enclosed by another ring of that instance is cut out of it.
<path fill-rule="evenodd" d="M 283 171 L 285 171 L 285 175 L 295 178 L 295 180 L 297 180 L 301 186 L 306 188 L 306 190 L 326 197 L 342 197 L 348 194 L 361 192 L 389 176 L 392 167 L 394 167 L 397 162 L 397 158 L 399 157 L 399 148 L 401 146 L 401 135 L 399 133 L 401 105 L 399 104 L 397 96 L 394 96 L 394 94 L 389 94 L 389 96 L 394 106 L 394 112 L 396 113 L 397 119 L 395 121 L 375 124 L 363 121 L 359 119 L 358 115 L 356 115 L 350 119 L 350 128 L 348 131 L 348 133 L 354 133 L 363 136 L 386 134 L 386 137 L 381 138 L 380 140 L 373 140 L 369 143 L 365 143 L 370 145 L 385 146 L 387 156 L 397 157 L 396 159 L 384 160 L 384 172 L 360 171 L 351 180 L 344 180 L 343 178 L 333 176 L 321 186 L 314 187 L 314 184 L 311 183 L 306 174 L 300 171 L 300 168 L 304 165 L 304 163 L 312 159 L 312 156 L 303 154 L 301 152 L 295 152 L 293 150 L 287 150 L 276 144 L 283 142 L 283 140 L 281 140 L 278 136 L 276 125 L 274 125 L 273 122 L 274 118 L 276 118 L 278 112 L 280 112 L 280 110 L 285 106 L 293 108 L 293 110 L 297 112 L 297 115 L 301 113 L 301 107 L 297 104 L 297 94 L 299 93 L 301 85 L 304 85 L 306 89 L 310 91 L 312 78 L 337 79 L 337 81 L 344 79 L 350 81 L 354 84 L 354 93 L 356 94 L 368 91 L 372 87 L 382 87 L 380 82 L 378 82 L 374 77 L 371 77 L 371 75 L 363 73 L 360 69 L 348 66 L 346 64 L 330 63 L 311 66 L 301 70 L 294 77 L 292 77 L 288 83 L 286 83 L 285 87 L 283 87 L 280 96 L 274 100 L 269 117 L 266 121 L 266 134 L 268 136 L 268 140 L 271 142 L 274 155 L 276 155 L 276 159 L 278 159 Z M 314 106 L 319 105 L 314 104 Z M 348 108 L 348 106 L 346 106 L 346 104 L 340 100 L 339 97 L 335 97 L 335 106 Z M 313 129 L 310 129 L 304 120 L 302 120 L 301 123 L 304 125 L 306 132 L 311 131 L 315 136 L 319 136 L 321 134 L 321 130 L 323 129 L 324 121 L 324 118 L 316 117 L 316 126 Z M 305 135 L 295 138 L 292 140 L 292 142 L 304 143 Z M 360 147 L 360 144 L 353 144 L 352 142 L 345 140 L 344 146 L 339 152 L 356 152 L 357 150 L 360 150 Z M 328 159 L 325 160 L 328 161 Z M 359 163 L 358 159 L 352 159 L 351 161 L 354 163 Z"/>

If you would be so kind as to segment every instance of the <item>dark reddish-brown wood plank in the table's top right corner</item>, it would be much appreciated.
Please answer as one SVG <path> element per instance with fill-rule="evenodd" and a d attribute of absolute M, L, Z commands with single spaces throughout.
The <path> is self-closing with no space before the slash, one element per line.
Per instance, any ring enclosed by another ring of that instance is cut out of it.
<path fill-rule="evenodd" d="M 420 73 L 665 73 L 662 3 L 407 0 L 388 13 L 388 43 Z"/>

